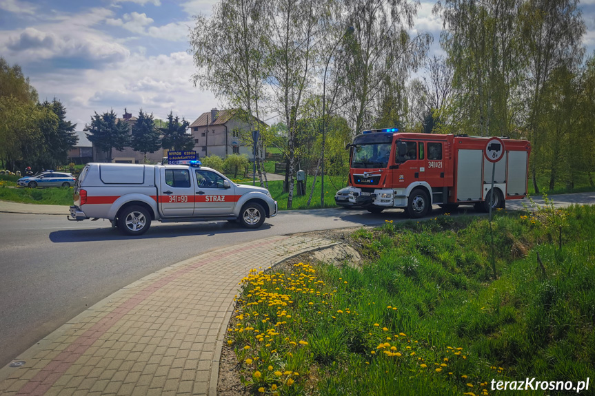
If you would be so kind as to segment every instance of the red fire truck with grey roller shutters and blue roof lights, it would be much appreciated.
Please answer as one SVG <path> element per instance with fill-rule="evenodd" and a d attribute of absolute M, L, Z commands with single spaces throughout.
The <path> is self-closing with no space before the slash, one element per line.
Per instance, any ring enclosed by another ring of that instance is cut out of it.
<path fill-rule="evenodd" d="M 454 209 L 475 205 L 478 211 L 505 207 L 506 200 L 527 195 L 531 145 L 501 138 L 501 160 L 487 160 L 490 138 L 467 135 L 411 134 L 396 128 L 373 129 L 354 138 L 350 147 L 349 201 L 372 213 L 403 208 L 421 218 L 432 205 Z M 492 170 L 494 194 L 492 198 Z"/>

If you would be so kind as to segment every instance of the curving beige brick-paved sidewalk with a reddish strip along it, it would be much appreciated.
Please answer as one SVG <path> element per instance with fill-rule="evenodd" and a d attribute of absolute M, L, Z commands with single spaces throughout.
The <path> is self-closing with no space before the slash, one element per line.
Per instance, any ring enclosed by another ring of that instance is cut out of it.
<path fill-rule="evenodd" d="M 0 394 L 214 396 L 241 278 L 333 244 L 275 236 L 153 273 L 32 346 L 12 361 L 17 367 L 1 368 Z"/>

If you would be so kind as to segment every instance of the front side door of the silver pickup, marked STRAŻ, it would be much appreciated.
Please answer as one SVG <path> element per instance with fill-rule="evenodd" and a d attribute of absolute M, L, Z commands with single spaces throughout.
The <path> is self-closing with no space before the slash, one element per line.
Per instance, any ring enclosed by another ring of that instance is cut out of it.
<path fill-rule="evenodd" d="M 225 216 L 234 211 L 239 196 L 235 187 L 225 188 L 225 178 L 207 169 L 194 169 L 196 195 L 194 216 Z"/>

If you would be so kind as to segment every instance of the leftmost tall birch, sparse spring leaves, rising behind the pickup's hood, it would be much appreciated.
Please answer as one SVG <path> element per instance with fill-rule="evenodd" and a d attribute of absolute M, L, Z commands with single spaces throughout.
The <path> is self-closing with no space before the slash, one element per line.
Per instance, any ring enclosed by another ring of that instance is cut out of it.
<path fill-rule="evenodd" d="M 261 118 L 259 106 L 265 96 L 266 7 L 263 0 L 223 0 L 214 6 L 212 17 L 196 17 L 190 32 L 194 65 L 199 69 L 194 84 L 241 110 L 236 114 L 250 131 Z M 261 185 L 262 177 L 259 167 Z"/>

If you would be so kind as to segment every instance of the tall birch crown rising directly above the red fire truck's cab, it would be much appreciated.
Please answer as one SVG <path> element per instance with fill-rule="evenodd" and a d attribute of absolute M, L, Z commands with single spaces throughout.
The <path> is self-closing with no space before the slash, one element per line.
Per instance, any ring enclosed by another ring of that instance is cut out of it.
<path fill-rule="evenodd" d="M 405 86 L 427 52 L 432 37 L 410 37 L 418 2 L 401 0 L 347 0 L 347 25 L 354 27 L 347 66 L 347 116 L 358 134 L 372 125 L 378 102 L 387 87 Z"/>

